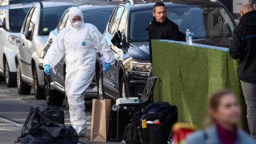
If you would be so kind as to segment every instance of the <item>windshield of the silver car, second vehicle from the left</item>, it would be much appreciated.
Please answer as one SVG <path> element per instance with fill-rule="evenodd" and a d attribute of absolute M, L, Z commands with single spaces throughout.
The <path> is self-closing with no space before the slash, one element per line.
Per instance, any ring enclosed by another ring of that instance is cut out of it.
<path fill-rule="evenodd" d="M 41 10 L 39 35 L 48 35 L 57 27 L 59 20 L 69 6 L 50 7 Z"/>

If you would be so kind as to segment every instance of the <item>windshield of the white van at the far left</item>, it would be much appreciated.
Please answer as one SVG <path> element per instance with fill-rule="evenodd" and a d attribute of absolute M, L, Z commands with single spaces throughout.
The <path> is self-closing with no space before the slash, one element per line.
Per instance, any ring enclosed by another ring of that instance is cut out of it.
<path fill-rule="evenodd" d="M 20 4 L 20 3 L 33 3 L 36 1 L 33 0 L 19 0 L 19 1 L 10 1 L 10 4 Z M 9 18 L 10 18 L 10 30 L 21 30 L 23 21 L 28 13 L 30 7 L 23 9 L 10 9 Z"/>

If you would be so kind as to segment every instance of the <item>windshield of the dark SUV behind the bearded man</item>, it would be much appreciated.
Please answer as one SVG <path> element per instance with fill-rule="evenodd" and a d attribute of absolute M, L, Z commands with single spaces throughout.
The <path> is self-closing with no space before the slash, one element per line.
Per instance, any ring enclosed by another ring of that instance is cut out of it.
<path fill-rule="evenodd" d="M 235 29 L 223 7 L 172 7 L 167 18 L 176 23 L 184 34 L 189 29 L 193 39 L 231 37 Z M 130 41 L 148 41 L 152 10 L 133 11 L 130 21 Z"/>

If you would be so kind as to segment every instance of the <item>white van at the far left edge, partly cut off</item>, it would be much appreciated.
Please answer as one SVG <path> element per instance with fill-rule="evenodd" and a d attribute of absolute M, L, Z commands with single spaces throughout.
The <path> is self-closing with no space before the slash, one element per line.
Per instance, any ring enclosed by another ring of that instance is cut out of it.
<path fill-rule="evenodd" d="M 20 29 L 26 14 L 39 0 L 2 0 L 0 1 L 0 76 L 5 79 L 7 87 L 14 87 L 16 83 L 16 72 L 14 57 L 18 50 Z M 17 4 L 22 7 L 18 8 Z M 5 6 L 5 9 L 3 7 Z M 9 9 L 11 6 L 11 9 Z"/>

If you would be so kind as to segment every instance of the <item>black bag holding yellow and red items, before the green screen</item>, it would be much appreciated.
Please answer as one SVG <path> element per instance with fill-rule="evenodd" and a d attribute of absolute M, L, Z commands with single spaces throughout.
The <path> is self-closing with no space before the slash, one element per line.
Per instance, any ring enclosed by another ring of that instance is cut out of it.
<path fill-rule="evenodd" d="M 144 114 L 142 120 L 159 120 L 160 124 L 147 124 L 147 128 L 139 126 L 140 143 L 145 144 L 167 144 L 171 133 L 172 125 L 178 120 L 178 110 L 176 106 L 171 106 L 168 102 L 157 101 L 151 103 Z"/>

